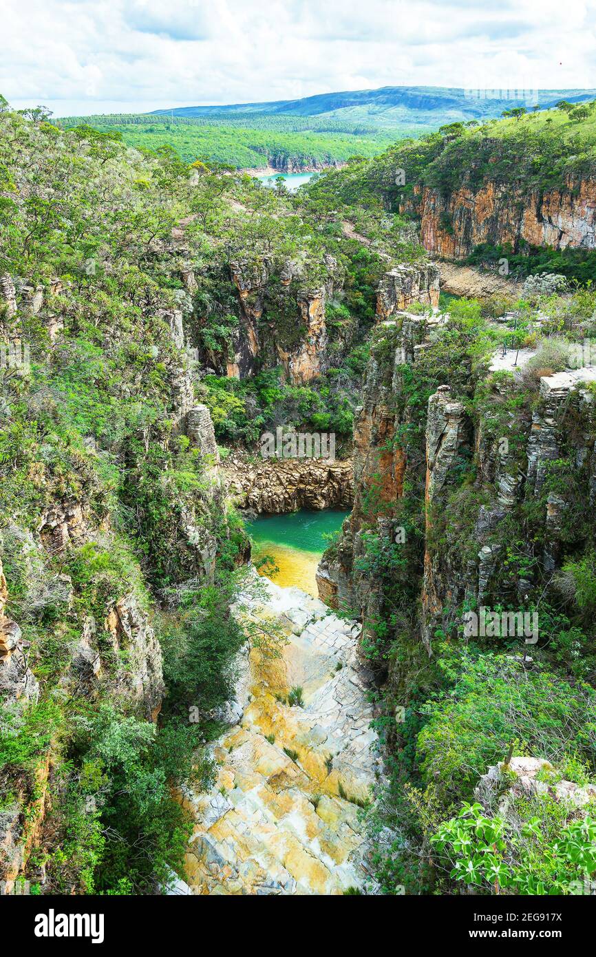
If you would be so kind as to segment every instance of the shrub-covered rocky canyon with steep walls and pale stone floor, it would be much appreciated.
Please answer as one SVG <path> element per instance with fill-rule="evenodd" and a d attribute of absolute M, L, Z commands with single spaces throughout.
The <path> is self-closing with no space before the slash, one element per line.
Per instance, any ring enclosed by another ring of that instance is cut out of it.
<path fill-rule="evenodd" d="M 288 195 L 0 125 L 0 333 L 31 345 L 0 370 L 7 886 L 459 894 L 477 790 L 507 849 L 467 890 L 566 893 L 576 862 L 541 862 L 585 831 L 563 794 L 589 811 L 596 767 L 596 369 L 570 362 L 596 302 L 436 260 L 591 249 L 592 180 L 421 184 L 398 211 L 376 161 Z M 338 457 L 259 455 L 302 429 Z M 252 551 L 247 522 L 289 517 L 311 572 L 324 541 L 319 597 Z M 531 654 L 466 634 L 482 607 L 538 615 Z"/>

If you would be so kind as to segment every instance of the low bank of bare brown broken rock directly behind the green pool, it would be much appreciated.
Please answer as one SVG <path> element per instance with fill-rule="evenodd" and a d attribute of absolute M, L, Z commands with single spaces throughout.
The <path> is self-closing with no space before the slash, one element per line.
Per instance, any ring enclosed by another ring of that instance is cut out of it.
<path fill-rule="evenodd" d="M 228 492 L 240 508 L 282 514 L 298 508 L 349 508 L 352 462 L 326 459 L 225 460 Z"/>

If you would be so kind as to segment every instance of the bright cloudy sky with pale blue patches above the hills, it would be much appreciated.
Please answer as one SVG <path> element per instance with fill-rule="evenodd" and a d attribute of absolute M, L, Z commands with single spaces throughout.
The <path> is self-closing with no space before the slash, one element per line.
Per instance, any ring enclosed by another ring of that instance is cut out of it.
<path fill-rule="evenodd" d="M 424 84 L 596 87 L 596 0 L 2 0 L 0 93 L 56 116 Z"/>

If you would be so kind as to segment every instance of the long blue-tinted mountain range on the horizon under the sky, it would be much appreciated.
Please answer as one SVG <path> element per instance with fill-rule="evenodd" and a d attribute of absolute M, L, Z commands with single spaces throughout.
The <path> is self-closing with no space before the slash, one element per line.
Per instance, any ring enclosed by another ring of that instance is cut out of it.
<path fill-rule="evenodd" d="M 596 99 L 593 90 L 463 90 L 441 86 L 384 86 L 379 90 L 351 90 L 320 93 L 301 100 L 274 100 L 261 103 L 232 103 L 226 106 L 179 106 L 154 110 L 155 114 L 176 117 L 212 115 L 283 114 L 284 116 L 328 116 L 334 119 L 368 121 L 376 126 L 403 126 L 420 123 L 436 126 L 457 120 L 498 117 L 515 106 L 542 109 L 559 100 L 582 102 Z"/>

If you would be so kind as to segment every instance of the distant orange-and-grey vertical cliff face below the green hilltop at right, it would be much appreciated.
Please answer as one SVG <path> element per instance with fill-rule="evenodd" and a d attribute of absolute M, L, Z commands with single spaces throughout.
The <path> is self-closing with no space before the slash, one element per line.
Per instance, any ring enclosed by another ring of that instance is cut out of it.
<path fill-rule="evenodd" d="M 510 243 L 516 253 L 524 243 L 596 247 L 596 183 L 589 179 L 569 178 L 563 190 L 530 194 L 496 183 L 477 191 L 457 189 L 448 197 L 438 189 L 416 187 L 400 211 L 419 216 L 425 249 L 448 258 L 469 256 L 481 243 Z"/>

